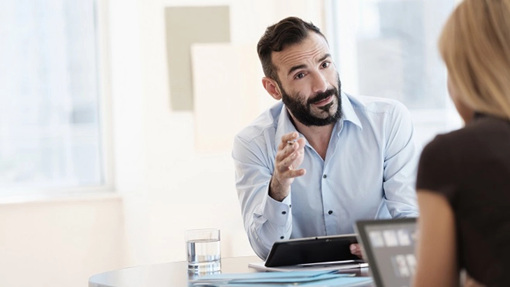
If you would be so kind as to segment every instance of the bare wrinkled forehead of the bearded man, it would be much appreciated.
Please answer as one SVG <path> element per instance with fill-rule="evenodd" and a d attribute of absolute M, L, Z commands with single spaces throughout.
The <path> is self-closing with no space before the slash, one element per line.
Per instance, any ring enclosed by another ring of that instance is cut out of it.
<path fill-rule="evenodd" d="M 326 54 L 330 54 L 326 39 L 310 31 L 307 38 L 300 43 L 284 47 L 280 52 L 272 52 L 271 59 L 278 71 L 281 71 L 310 59 L 321 59 Z"/>

